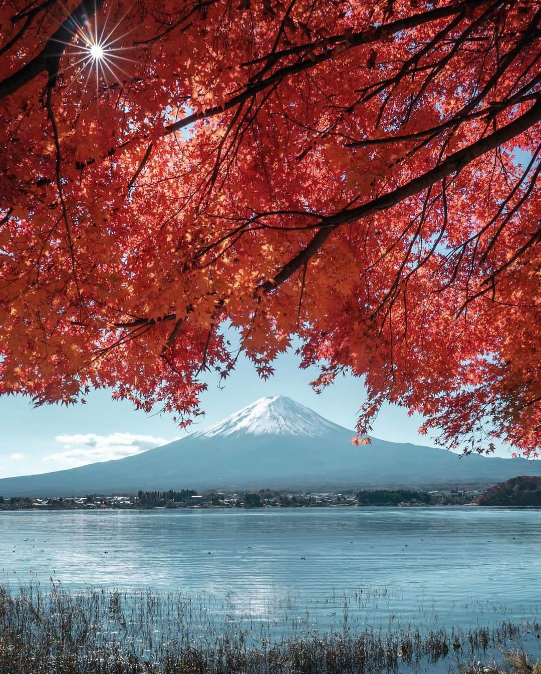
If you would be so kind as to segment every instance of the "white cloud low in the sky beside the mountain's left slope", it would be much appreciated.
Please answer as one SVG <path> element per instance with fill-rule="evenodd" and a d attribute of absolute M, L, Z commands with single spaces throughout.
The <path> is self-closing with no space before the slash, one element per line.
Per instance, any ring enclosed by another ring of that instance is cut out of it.
<path fill-rule="evenodd" d="M 165 437 L 134 435 L 133 433 L 57 435 L 55 440 L 63 446 L 63 452 L 55 452 L 43 460 L 62 464 L 59 467 L 69 468 L 134 456 L 134 454 L 141 454 L 141 452 L 172 441 Z"/>

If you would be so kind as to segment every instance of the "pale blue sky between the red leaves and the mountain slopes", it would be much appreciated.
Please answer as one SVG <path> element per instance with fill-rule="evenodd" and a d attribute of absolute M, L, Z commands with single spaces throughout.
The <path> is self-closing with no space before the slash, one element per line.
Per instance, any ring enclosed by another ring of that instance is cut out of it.
<path fill-rule="evenodd" d="M 219 388 L 218 377 L 206 378 L 208 391 L 202 396 L 206 415 L 192 429 L 219 421 L 223 417 L 263 396 L 282 394 L 312 408 L 326 419 L 353 429 L 357 412 L 365 400 L 360 379 L 344 377 L 322 394 L 309 386 L 316 369 L 298 369 L 293 350 L 275 363 L 275 376 L 259 379 L 254 367 L 239 358 L 237 369 Z M 171 416 L 145 415 L 127 402 L 111 400 L 107 391 L 88 396 L 86 405 L 57 405 L 32 408 L 28 398 L 0 398 L 0 477 L 50 472 L 85 463 L 130 456 L 186 435 Z M 433 444 L 418 435 L 420 417 L 408 417 L 405 410 L 387 406 L 380 412 L 373 435 L 382 439 Z M 509 456 L 501 448 L 500 456 Z"/>

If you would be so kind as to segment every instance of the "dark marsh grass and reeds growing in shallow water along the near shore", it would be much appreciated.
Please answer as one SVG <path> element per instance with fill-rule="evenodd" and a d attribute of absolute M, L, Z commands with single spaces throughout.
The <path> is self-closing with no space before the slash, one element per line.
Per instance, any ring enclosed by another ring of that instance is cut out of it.
<path fill-rule="evenodd" d="M 69 592 L 55 582 L 47 590 L 38 583 L 0 586 L 0 674 L 360 674 L 402 665 L 411 671 L 458 666 L 541 631 L 535 621 L 467 629 L 352 626 L 345 597 L 330 632 L 320 634 L 305 615 L 292 620 L 293 634 L 277 634 L 270 621 L 276 603 L 254 617 L 239 614 L 226 596 L 217 617 L 209 601 L 145 589 Z M 354 601 L 373 603 L 374 596 L 355 594 Z M 278 604 L 287 615 L 287 596 Z M 477 674 L 471 667 L 463 674 Z M 526 671 L 541 674 L 517 669 Z"/>

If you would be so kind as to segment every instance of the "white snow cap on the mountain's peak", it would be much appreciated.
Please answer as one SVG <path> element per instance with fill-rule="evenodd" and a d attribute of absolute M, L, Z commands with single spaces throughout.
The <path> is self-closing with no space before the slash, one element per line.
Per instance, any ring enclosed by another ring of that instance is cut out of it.
<path fill-rule="evenodd" d="M 318 437 L 341 429 L 287 396 L 259 398 L 222 421 L 193 433 L 192 437 L 217 435 L 310 435 Z"/>

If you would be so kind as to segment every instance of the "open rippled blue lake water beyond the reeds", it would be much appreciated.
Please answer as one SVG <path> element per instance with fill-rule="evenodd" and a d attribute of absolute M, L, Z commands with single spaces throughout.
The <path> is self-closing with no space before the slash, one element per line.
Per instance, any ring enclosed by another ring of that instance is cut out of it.
<path fill-rule="evenodd" d="M 475 507 L 0 512 L 0 566 L 10 584 L 148 586 L 324 626 L 344 607 L 358 625 L 490 624 L 537 617 L 540 524 Z"/>

